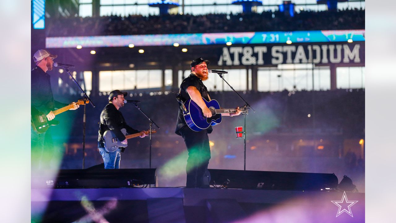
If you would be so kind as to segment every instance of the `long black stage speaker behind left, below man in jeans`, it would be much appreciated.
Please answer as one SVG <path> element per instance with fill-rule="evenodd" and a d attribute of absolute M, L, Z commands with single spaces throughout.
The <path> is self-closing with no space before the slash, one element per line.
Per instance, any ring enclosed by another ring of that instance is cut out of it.
<path fill-rule="evenodd" d="M 156 184 L 156 169 L 61 169 L 53 179 L 32 176 L 32 188 L 123 188 Z M 47 177 L 48 178 L 48 177 Z"/>

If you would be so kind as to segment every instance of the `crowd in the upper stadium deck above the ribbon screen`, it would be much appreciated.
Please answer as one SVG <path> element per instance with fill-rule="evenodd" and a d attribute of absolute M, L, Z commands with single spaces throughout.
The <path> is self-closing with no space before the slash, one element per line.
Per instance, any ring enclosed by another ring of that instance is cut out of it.
<path fill-rule="evenodd" d="M 118 15 L 49 18 L 46 36 L 145 35 L 259 31 L 364 29 L 365 10 L 206 15 Z"/>

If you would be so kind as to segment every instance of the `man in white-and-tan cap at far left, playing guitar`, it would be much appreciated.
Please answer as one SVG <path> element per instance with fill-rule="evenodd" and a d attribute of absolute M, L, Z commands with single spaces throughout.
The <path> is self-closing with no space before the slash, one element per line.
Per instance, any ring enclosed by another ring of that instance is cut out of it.
<path fill-rule="evenodd" d="M 53 111 L 59 108 L 68 106 L 58 101 L 55 101 L 51 89 L 50 75 L 47 71 L 51 71 L 53 67 L 53 59 L 57 58 L 57 55 L 50 54 L 47 50 L 37 50 L 34 53 L 33 61 L 35 67 L 31 71 L 31 112 L 33 114 L 44 113 L 49 121 L 55 118 Z M 76 102 L 73 108 L 70 110 L 76 110 L 79 105 Z M 45 142 L 45 146 L 44 146 Z M 52 138 L 49 131 L 44 133 L 37 133 L 31 128 L 31 165 L 32 170 L 43 169 L 45 167 L 51 167 L 49 161 L 51 161 L 53 153 Z M 46 160 L 43 162 L 42 160 Z"/>

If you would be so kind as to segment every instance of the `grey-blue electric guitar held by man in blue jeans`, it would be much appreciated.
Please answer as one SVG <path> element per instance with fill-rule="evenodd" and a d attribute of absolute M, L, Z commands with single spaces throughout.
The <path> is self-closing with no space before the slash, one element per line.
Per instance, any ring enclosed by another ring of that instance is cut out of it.
<path fill-rule="evenodd" d="M 121 132 L 122 132 L 122 134 L 125 135 L 126 139 L 135 138 L 135 137 L 139 137 L 139 136 L 143 135 L 142 133 L 126 135 L 126 129 L 121 129 Z M 151 133 L 156 133 L 156 132 L 157 131 L 155 129 L 151 130 Z M 150 134 L 150 130 L 144 131 L 144 133 L 146 135 L 148 135 L 148 134 Z M 107 152 L 114 152 L 120 147 L 128 146 L 128 144 L 121 143 L 121 141 L 118 140 L 118 138 L 116 137 L 114 132 L 111 130 L 105 131 L 105 133 L 103 134 L 103 139 L 104 139 L 104 143 L 105 143 L 105 150 L 107 150 Z"/>

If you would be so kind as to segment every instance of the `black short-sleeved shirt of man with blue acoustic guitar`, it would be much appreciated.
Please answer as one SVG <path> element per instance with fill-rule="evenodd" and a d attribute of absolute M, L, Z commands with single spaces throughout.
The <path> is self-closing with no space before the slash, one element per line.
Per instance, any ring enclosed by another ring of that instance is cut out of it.
<path fill-rule="evenodd" d="M 180 85 L 180 94 L 181 94 L 181 99 L 183 102 L 186 102 L 188 99 L 190 99 L 190 95 L 187 93 L 187 88 L 190 86 L 194 86 L 198 89 L 198 91 L 201 93 L 201 96 L 205 98 L 207 101 L 209 101 L 209 92 L 204 83 L 202 83 L 202 80 L 195 76 L 194 74 L 190 74 L 188 77 L 186 77 L 183 82 Z M 177 115 L 177 123 L 176 123 L 176 130 L 175 133 L 177 135 L 181 135 L 179 130 L 182 129 L 187 125 L 186 121 L 184 120 L 183 117 L 183 107 L 179 106 L 179 114 Z M 208 129 L 208 133 L 211 133 L 213 131 L 212 126 L 210 126 Z"/>

